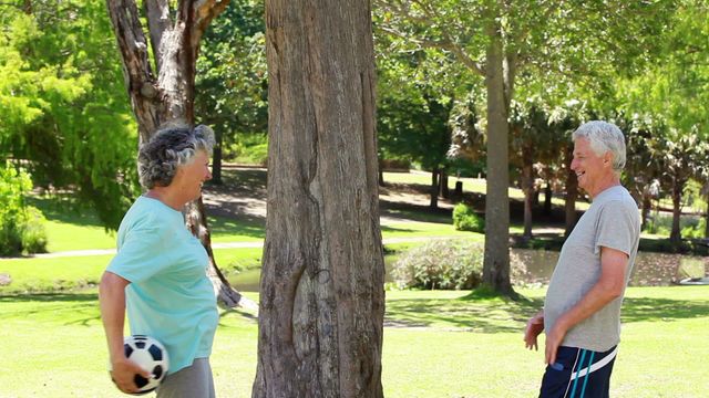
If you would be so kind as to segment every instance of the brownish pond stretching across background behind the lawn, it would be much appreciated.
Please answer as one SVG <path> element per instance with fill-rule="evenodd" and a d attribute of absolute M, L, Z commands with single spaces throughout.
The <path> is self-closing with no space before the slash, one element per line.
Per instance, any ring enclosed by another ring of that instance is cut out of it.
<path fill-rule="evenodd" d="M 513 282 L 548 284 L 558 252 L 547 250 L 512 249 L 510 262 Z M 393 259 L 387 258 L 387 282 L 391 280 Z M 630 286 L 668 286 L 685 277 L 709 275 L 709 258 L 669 253 L 639 252 L 630 276 Z M 229 275 L 232 285 L 240 292 L 257 292 L 260 270 L 247 270 Z"/>

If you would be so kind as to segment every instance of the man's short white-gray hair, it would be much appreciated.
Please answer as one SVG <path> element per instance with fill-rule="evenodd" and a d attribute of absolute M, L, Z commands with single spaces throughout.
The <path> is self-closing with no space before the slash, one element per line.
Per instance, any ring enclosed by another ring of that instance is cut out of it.
<path fill-rule="evenodd" d="M 625 137 L 618 126 L 603 121 L 584 123 L 574 132 L 576 138 L 586 138 L 593 151 L 602 156 L 610 151 L 613 155 L 613 169 L 620 172 L 625 167 Z"/>

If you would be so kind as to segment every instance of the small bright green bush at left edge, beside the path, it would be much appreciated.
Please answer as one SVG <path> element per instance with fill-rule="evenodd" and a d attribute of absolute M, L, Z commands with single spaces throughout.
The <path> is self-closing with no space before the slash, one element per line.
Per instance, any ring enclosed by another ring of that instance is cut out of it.
<path fill-rule="evenodd" d="M 44 217 L 24 202 L 32 189 L 30 176 L 10 163 L 0 169 L 0 255 L 47 251 Z"/>

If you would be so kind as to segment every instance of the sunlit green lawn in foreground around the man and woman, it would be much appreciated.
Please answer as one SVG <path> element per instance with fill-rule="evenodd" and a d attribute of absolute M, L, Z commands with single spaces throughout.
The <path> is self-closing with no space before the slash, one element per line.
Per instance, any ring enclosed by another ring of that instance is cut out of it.
<path fill-rule="evenodd" d="M 467 292 L 387 292 L 382 380 L 387 397 L 531 397 L 542 352 L 525 350 L 522 329 L 544 290 L 527 301 Z M 706 287 L 630 287 L 614 397 L 703 397 L 709 377 Z M 247 293 L 257 300 L 254 293 Z M 0 296 L 2 397 L 124 397 L 106 375 L 94 290 Z M 438 308 L 438 311 L 431 311 Z M 541 342 L 543 344 L 543 341 Z M 217 396 L 247 397 L 256 369 L 256 322 L 223 312 L 212 356 Z M 18 377 L 22 375 L 22 377 Z"/>

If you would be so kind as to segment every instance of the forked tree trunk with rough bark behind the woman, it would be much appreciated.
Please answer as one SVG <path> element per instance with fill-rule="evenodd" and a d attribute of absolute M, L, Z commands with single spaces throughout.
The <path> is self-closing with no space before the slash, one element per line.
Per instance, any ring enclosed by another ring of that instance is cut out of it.
<path fill-rule="evenodd" d="M 135 1 L 106 0 L 123 61 L 125 86 L 137 121 L 140 145 L 163 124 L 194 125 L 195 62 L 199 39 L 228 2 L 185 0 L 179 1 L 178 9 L 173 12 L 167 0 L 145 0 L 144 18 L 157 67 L 157 73 L 154 73 L 148 41 L 143 33 L 142 17 Z M 244 298 L 229 286 L 214 261 L 202 198 L 185 207 L 185 222 L 209 254 L 208 274 L 219 300 L 227 306 L 239 304 Z"/>

